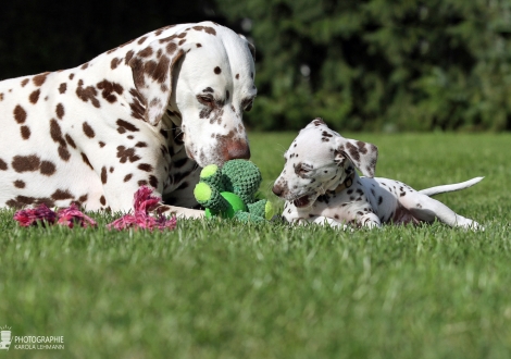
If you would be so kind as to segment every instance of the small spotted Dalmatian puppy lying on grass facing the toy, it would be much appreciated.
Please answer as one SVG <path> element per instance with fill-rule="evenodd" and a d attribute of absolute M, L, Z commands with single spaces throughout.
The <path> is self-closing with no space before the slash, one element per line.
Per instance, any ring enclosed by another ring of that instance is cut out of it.
<path fill-rule="evenodd" d="M 283 216 L 288 222 L 341 227 L 438 220 L 483 228 L 429 197 L 468 188 L 483 177 L 417 191 L 399 181 L 375 178 L 377 154 L 376 146 L 344 138 L 321 119 L 312 121 L 284 154 L 286 164 L 273 187 L 275 195 L 286 199 Z"/>

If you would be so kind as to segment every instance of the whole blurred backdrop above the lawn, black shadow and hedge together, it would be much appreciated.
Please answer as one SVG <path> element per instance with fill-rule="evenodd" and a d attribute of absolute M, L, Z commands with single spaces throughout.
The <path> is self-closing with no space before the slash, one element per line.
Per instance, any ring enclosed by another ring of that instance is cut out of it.
<path fill-rule="evenodd" d="M 0 79 L 79 65 L 167 24 L 212 20 L 257 47 L 252 129 L 511 129 L 511 0 L 21 0 Z"/>

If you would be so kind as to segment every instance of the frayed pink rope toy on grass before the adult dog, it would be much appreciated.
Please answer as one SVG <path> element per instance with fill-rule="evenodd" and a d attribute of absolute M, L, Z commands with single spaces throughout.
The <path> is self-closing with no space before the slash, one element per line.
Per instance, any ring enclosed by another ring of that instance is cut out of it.
<path fill-rule="evenodd" d="M 149 215 L 149 212 L 157 209 L 161 198 L 152 196 L 152 189 L 146 186 L 140 187 L 134 195 L 134 213 L 128 213 L 107 224 L 107 227 L 112 227 L 122 231 L 126 228 L 142 228 L 152 231 L 158 228 L 174 230 L 176 226 L 176 218 L 167 219 L 161 213 L 155 216 Z M 158 211 L 158 210 L 157 210 Z M 30 225 L 52 225 L 60 224 L 73 228 L 75 225 L 79 227 L 97 227 L 98 224 L 90 216 L 84 214 L 76 203 L 72 203 L 67 208 L 60 209 L 58 212 L 49 209 L 45 203 L 39 205 L 37 208 L 28 208 L 20 210 L 14 213 L 14 220 L 21 226 L 27 227 Z"/>

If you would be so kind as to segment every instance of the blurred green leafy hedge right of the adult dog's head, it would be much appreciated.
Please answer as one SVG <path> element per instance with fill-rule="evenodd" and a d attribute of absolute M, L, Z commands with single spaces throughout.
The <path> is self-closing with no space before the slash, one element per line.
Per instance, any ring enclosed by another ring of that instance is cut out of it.
<path fill-rule="evenodd" d="M 216 9 L 252 24 L 252 128 L 322 116 L 342 131 L 511 129 L 511 1 L 219 0 Z"/>

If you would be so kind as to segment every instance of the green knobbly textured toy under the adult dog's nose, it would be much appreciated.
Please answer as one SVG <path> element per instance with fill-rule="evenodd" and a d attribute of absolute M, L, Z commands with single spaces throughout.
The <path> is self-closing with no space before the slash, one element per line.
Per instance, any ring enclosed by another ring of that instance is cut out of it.
<path fill-rule="evenodd" d="M 203 168 L 194 196 L 205 208 L 207 218 L 220 215 L 244 222 L 263 222 L 272 218 L 273 207 L 257 194 L 261 182 L 261 172 L 256 164 L 230 160 L 222 169 L 216 164 Z"/>

